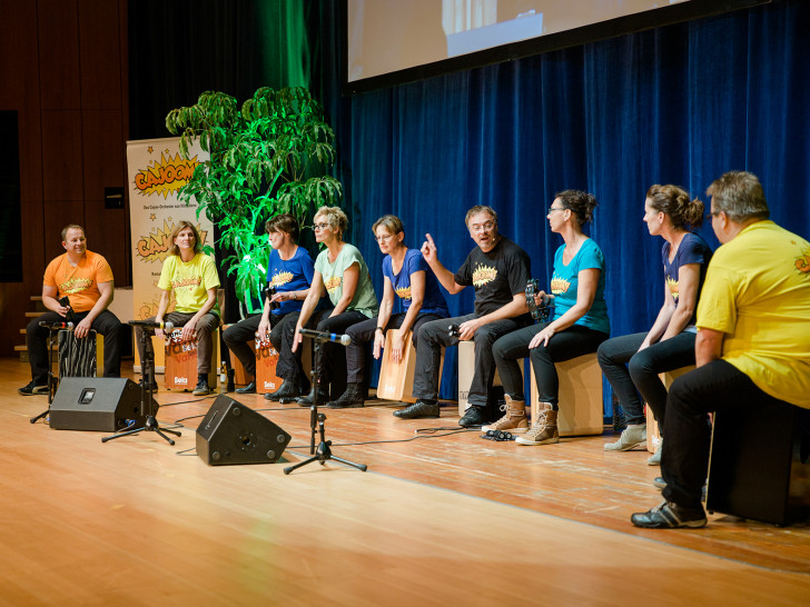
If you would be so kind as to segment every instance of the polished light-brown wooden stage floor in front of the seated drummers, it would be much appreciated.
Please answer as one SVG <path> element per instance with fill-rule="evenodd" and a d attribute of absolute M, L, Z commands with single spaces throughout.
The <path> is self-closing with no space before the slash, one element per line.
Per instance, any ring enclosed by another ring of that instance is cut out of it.
<path fill-rule="evenodd" d="M 455 404 L 397 420 L 371 401 L 324 409 L 334 454 L 367 472 L 286 476 L 308 457 L 306 408 L 230 395 L 292 447 L 284 464 L 208 467 L 195 428 L 215 396 L 158 392 L 160 421 L 184 419 L 174 447 L 102 444 L 31 425 L 47 397 L 17 395 L 29 377 L 0 359 L 0 605 L 810 604 L 808 525 L 632 527 L 659 469 L 605 452 L 612 431 L 523 447 L 441 430 L 458 429 Z"/>

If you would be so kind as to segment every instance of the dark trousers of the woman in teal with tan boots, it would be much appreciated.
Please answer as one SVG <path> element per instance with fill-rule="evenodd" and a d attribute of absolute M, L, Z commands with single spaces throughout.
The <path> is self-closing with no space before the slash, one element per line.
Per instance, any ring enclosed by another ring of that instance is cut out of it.
<path fill-rule="evenodd" d="M 540 401 L 551 402 L 552 408 L 557 410 L 560 378 L 554 364 L 596 351 L 599 345 L 608 339 L 608 334 L 573 325 L 554 334 L 549 340 L 549 346 L 541 344 L 536 348 L 529 349 L 532 338 L 549 325 L 550 322 L 533 325 L 502 337 L 495 342 L 492 354 L 495 357 L 504 392 L 514 400 L 525 400 L 523 374 L 517 360 L 527 356 L 534 368 L 534 381 L 537 385 Z"/>

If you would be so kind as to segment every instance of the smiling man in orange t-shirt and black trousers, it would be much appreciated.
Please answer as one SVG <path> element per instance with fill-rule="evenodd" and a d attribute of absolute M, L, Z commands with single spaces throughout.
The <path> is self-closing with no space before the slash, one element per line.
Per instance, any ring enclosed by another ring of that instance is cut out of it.
<path fill-rule="evenodd" d="M 42 304 L 49 311 L 26 328 L 31 382 L 18 390 L 22 396 L 48 392 L 48 326 L 59 322 L 73 322 L 79 339 L 90 329 L 103 335 L 105 377 L 120 377 L 121 322 L 107 309 L 112 302 L 112 270 L 102 256 L 87 250 L 81 226 L 71 223 L 62 230 L 62 247 L 67 252 L 48 265 L 42 281 Z M 69 306 L 60 304 L 62 297 L 68 298 Z"/>

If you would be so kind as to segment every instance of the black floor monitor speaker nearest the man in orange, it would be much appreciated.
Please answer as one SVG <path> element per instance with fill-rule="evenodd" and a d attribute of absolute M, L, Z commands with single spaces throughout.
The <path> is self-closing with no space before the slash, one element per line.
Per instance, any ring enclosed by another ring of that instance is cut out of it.
<path fill-rule="evenodd" d="M 152 412 L 158 404 L 152 406 Z M 63 377 L 50 406 L 49 425 L 57 430 L 98 430 L 115 432 L 144 426 L 146 411 L 140 406 L 140 386 L 127 378 Z"/>

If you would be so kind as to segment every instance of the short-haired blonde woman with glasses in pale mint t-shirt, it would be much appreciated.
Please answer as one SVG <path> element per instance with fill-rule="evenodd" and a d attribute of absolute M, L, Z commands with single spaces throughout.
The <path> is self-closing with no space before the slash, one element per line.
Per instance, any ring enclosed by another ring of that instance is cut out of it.
<path fill-rule="evenodd" d="M 293 351 L 302 342 L 299 330 L 306 327 L 309 317 L 315 311 L 323 289 L 329 296 L 334 309 L 328 317 L 322 319 L 316 329 L 330 334 L 342 334 L 352 325 L 360 322 L 377 315 L 377 296 L 368 276 L 360 251 L 357 247 L 344 242 L 343 235 L 348 227 L 348 218 L 338 207 L 320 207 L 313 219 L 315 240 L 326 246 L 326 249 L 315 260 L 315 275 L 313 283 L 304 301 L 298 324 L 295 328 Z M 346 376 L 346 369 L 333 369 L 333 356 L 325 356 L 329 349 L 340 348 L 336 344 L 325 344 L 318 350 L 316 366 L 320 369 L 320 385 L 317 387 L 318 402 L 326 405 L 328 386 L 335 374 Z M 309 396 L 298 399 L 302 406 L 309 406 L 315 397 L 316 386 Z"/>

